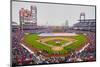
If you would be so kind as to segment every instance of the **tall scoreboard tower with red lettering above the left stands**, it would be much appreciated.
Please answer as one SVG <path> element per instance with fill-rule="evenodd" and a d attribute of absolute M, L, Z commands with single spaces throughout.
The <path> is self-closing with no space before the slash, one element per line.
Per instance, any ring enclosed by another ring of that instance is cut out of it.
<path fill-rule="evenodd" d="M 20 29 L 23 31 L 33 31 L 37 28 L 37 7 L 30 6 L 30 10 L 21 8 L 19 11 Z"/>

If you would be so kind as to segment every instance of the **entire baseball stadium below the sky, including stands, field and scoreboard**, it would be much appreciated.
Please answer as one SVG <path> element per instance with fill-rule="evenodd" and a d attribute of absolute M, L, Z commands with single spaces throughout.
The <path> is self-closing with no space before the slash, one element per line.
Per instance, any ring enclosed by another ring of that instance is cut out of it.
<path fill-rule="evenodd" d="M 20 25 L 11 24 L 13 66 L 96 60 L 95 19 L 80 19 L 73 27 L 38 26 L 36 6 L 22 8 L 19 17 Z"/>

